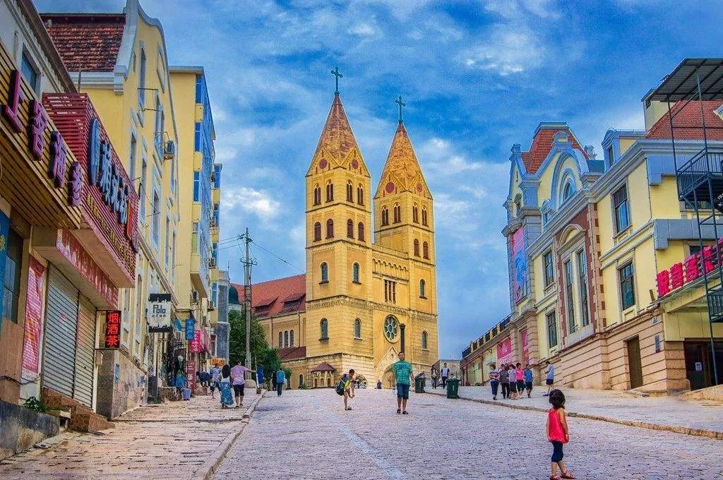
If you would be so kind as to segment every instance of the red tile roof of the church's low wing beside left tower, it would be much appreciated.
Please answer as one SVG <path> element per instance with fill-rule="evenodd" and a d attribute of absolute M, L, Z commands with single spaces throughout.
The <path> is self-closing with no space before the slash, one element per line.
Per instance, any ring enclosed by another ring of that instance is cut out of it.
<path fill-rule="evenodd" d="M 244 303 L 244 286 L 231 283 L 239 292 L 239 303 Z M 268 282 L 255 283 L 251 286 L 252 306 L 255 310 L 262 307 L 259 315 L 275 316 L 306 310 L 307 275 L 278 278 Z M 287 302 L 285 304 L 285 302 Z"/>

